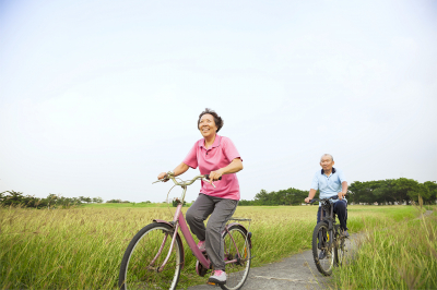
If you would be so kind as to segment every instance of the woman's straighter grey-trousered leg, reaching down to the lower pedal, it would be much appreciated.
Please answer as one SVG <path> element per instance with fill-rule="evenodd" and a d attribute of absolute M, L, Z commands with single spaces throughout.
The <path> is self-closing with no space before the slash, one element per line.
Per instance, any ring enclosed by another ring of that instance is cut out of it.
<path fill-rule="evenodd" d="M 212 197 L 215 208 L 206 225 L 205 249 L 208 256 L 216 270 L 225 270 L 222 232 L 227 220 L 234 215 L 238 201 Z"/>

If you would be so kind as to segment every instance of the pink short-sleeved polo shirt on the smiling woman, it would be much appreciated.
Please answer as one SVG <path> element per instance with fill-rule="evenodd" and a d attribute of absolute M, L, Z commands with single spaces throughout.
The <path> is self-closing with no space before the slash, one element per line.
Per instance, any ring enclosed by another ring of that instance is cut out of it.
<path fill-rule="evenodd" d="M 196 142 L 184 159 L 184 164 L 193 169 L 199 166 L 201 174 L 209 174 L 211 171 L 228 166 L 232 160 L 239 157 L 237 148 L 228 137 L 215 135 L 214 144 L 209 149 L 204 147 L 204 138 Z M 236 173 L 223 174 L 222 180 L 214 181 L 214 185 L 215 189 L 210 183 L 202 181 L 200 192 L 215 197 L 239 201 L 239 184 Z"/>

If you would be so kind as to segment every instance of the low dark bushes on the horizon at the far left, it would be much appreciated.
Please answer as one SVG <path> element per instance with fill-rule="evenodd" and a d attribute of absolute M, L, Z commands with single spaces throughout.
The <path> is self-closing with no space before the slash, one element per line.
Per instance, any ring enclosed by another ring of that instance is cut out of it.
<path fill-rule="evenodd" d="M 102 197 L 64 197 L 56 194 L 49 194 L 45 198 L 24 195 L 22 192 L 5 191 L 0 193 L 0 206 L 22 206 L 32 208 L 70 208 L 81 204 L 103 203 Z"/>

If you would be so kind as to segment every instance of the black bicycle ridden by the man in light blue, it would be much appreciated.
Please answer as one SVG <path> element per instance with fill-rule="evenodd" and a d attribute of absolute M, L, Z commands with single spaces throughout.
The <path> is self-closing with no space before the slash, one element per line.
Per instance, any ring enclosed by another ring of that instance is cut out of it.
<path fill-rule="evenodd" d="M 345 250 L 345 237 L 342 234 L 340 223 L 335 220 L 333 200 L 338 196 L 317 200 L 321 205 L 320 222 L 316 225 L 312 233 L 312 256 L 317 269 L 324 276 L 332 274 L 333 267 L 343 264 Z M 326 215 L 324 215 L 326 213 Z"/>

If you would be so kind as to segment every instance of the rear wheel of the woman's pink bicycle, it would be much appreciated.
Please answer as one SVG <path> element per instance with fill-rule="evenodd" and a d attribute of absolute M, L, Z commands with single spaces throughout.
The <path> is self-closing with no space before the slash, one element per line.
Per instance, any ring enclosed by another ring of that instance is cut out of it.
<path fill-rule="evenodd" d="M 232 259 L 236 259 L 236 262 L 226 264 L 226 285 L 221 285 L 220 287 L 227 290 L 237 290 L 243 287 L 249 276 L 251 251 L 249 238 L 247 238 L 248 233 L 244 227 L 234 225 L 228 231 L 229 233 L 225 232 L 223 235 L 225 262 Z"/>

